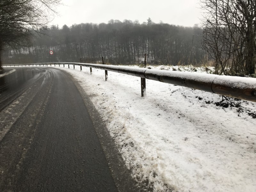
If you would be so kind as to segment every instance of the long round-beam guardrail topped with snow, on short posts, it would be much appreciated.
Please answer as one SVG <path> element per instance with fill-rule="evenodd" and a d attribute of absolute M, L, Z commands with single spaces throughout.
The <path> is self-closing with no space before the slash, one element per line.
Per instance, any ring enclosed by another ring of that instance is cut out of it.
<path fill-rule="evenodd" d="M 103 61 L 103 60 L 102 60 Z M 103 61 L 104 63 L 104 61 Z M 32 64 L 17 64 L 17 65 L 3 65 L 4 66 L 34 66 L 34 65 L 53 65 L 65 64 L 89 67 L 92 74 L 92 68 L 105 70 L 105 80 L 108 80 L 108 71 L 122 73 L 141 78 L 141 96 L 146 94 L 146 79 L 160 81 L 168 84 L 180 85 L 192 89 L 212 92 L 228 97 L 243 99 L 256 102 L 256 78 L 249 77 L 234 77 L 234 76 L 220 76 L 212 74 L 199 74 L 191 72 L 180 71 L 165 71 L 148 68 L 124 67 L 104 64 L 90 64 L 90 63 L 70 63 L 70 62 L 55 62 L 55 63 L 32 63 Z"/>

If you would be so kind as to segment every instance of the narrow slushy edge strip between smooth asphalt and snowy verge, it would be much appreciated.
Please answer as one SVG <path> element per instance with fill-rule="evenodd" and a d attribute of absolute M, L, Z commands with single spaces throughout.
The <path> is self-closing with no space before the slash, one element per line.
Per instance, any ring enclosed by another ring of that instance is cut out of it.
<path fill-rule="evenodd" d="M 131 176 L 131 170 L 126 167 L 124 160 L 115 144 L 115 140 L 110 136 L 104 121 L 92 104 L 90 97 L 86 94 L 84 89 L 77 82 L 77 80 L 73 78 L 72 75 L 70 75 L 69 73 L 67 73 L 67 75 L 72 79 L 84 100 L 84 104 L 92 119 L 93 127 L 97 132 L 98 138 L 107 158 L 108 166 L 112 172 L 112 176 L 116 183 L 118 191 L 145 191 L 143 188 L 138 187 L 138 183 L 133 180 Z"/>

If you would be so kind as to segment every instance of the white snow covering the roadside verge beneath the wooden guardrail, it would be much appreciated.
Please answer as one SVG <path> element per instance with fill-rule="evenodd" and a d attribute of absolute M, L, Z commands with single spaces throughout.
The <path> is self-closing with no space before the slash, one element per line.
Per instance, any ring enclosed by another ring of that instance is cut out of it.
<path fill-rule="evenodd" d="M 151 191 L 256 191 L 255 103 L 152 80 L 141 98 L 138 77 L 108 71 L 105 82 L 104 70 L 61 69 L 90 96 L 141 185 Z"/>

